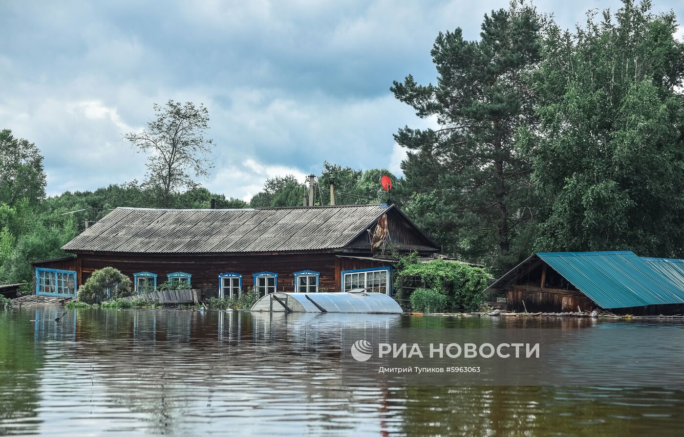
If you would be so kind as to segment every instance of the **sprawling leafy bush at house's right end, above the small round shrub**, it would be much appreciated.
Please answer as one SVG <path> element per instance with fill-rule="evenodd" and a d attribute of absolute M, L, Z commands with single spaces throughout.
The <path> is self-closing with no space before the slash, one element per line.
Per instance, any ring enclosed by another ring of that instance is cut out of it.
<path fill-rule="evenodd" d="M 480 267 L 471 267 L 442 259 L 420 263 L 416 254 L 411 254 L 400 259 L 395 278 L 397 290 L 401 289 L 404 280 L 418 280 L 422 285 L 420 288 L 445 295 L 447 308 L 473 311 L 477 310 L 484 301 L 482 292 L 487 288 L 489 275 Z M 412 293 L 400 290 L 397 294 L 399 298 L 411 299 Z"/>

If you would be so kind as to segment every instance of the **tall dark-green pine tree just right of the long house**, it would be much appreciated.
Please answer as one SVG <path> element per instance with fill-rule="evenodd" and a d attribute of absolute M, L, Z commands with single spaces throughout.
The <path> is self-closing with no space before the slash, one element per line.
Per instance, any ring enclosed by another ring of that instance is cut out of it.
<path fill-rule="evenodd" d="M 511 2 L 484 17 L 481 40 L 440 33 L 432 49 L 436 85 L 412 76 L 391 91 L 440 129 L 405 127 L 401 187 L 406 211 L 448 252 L 502 271 L 529 254 L 536 207 L 531 163 L 516 133 L 534 127 L 534 94 L 525 78 L 540 60 L 544 17 Z"/>

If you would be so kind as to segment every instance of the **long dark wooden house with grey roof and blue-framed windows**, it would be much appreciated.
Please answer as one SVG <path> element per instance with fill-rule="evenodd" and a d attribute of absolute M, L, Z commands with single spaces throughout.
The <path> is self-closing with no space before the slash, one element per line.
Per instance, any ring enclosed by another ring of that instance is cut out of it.
<path fill-rule="evenodd" d="M 358 287 L 391 295 L 393 262 L 371 251 L 376 226 L 389 231 L 386 252 L 438 251 L 387 204 L 117 208 L 64 246 L 75 257 L 33 263 L 36 294 L 74 297 L 92 272 L 111 266 L 130 276 L 137 291 L 168 281 L 200 289 L 205 297 L 229 297 L 250 287 L 261 295 Z"/>

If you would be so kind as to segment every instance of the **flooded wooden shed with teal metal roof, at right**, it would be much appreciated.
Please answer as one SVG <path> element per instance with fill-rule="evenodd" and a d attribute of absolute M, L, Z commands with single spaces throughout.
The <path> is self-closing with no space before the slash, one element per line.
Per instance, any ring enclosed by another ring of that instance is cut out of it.
<path fill-rule="evenodd" d="M 536 253 L 485 290 L 518 312 L 684 313 L 684 260 L 633 252 Z"/>

